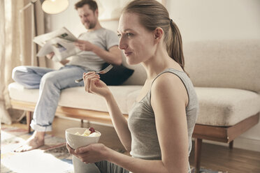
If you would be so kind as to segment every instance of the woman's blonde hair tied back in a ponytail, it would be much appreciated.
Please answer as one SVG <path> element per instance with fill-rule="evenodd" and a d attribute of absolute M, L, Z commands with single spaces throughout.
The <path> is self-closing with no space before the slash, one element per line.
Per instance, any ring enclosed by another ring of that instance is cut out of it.
<path fill-rule="evenodd" d="M 134 0 L 124 7 L 122 13 L 136 13 L 139 16 L 140 24 L 143 24 L 149 31 L 161 27 L 164 30 L 164 43 L 169 57 L 185 70 L 182 36 L 175 22 L 170 19 L 167 9 L 161 3 L 155 0 Z"/>

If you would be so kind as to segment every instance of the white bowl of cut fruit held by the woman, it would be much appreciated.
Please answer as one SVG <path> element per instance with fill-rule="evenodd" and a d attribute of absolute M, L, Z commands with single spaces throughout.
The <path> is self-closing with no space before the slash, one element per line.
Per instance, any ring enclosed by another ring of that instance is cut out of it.
<path fill-rule="evenodd" d="M 101 133 L 94 128 L 68 128 L 65 131 L 66 142 L 73 149 L 99 142 Z"/>

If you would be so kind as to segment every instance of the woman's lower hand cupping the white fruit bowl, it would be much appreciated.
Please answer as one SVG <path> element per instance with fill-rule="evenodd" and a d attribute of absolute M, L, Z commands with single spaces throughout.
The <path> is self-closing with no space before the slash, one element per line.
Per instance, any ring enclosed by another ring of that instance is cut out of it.
<path fill-rule="evenodd" d="M 89 144 L 78 149 L 72 149 L 67 144 L 68 152 L 79 158 L 83 163 L 96 163 L 101 160 L 106 160 L 108 147 L 103 144 Z"/>

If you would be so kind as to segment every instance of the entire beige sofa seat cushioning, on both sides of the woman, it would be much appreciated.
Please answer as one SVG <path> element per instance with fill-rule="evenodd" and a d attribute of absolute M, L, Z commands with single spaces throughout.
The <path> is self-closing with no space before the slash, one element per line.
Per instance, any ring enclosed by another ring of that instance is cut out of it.
<path fill-rule="evenodd" d="M 142 86 L 109 87 L 123 114 L 129 110 Z M 36 103 L 38 89 L 24 89 L 12 83 L 8 87 L 10 98 Z M 214 126 L 232 126 L 260 111 L 260 96 L 241 89 L 196 87 L 200 112 L 196 123 Z M 84 87 L 64 89 L 59 100 L 60 106 L 108 112 L 106 102 L 100 96 L 86 93 Z"/>

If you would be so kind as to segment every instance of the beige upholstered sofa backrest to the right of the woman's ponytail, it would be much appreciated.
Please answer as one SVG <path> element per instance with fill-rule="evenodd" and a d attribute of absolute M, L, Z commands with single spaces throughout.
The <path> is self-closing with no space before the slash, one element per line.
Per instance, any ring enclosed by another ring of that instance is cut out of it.
<path fill-rule="evenodd" d="M 260 91 L 260 40 L 214 40 L 184 45 L 195 87 Z"/>

